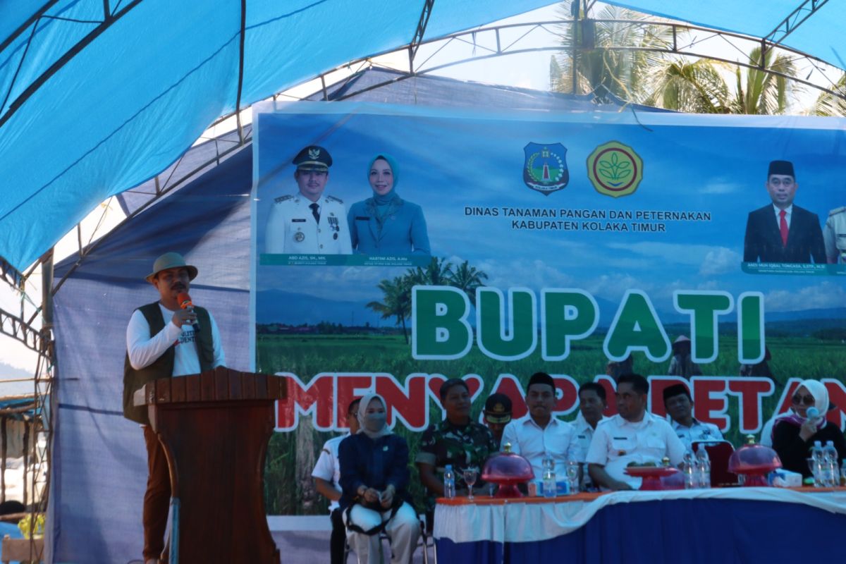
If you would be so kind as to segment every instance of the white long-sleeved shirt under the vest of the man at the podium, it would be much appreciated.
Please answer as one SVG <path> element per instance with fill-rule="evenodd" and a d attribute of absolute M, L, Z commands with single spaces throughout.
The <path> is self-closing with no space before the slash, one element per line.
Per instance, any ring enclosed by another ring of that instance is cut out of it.
<path fill-rule="evenodd" d="M 158 304 L 162 310 L 165 326 L 156 335 L 150 335 L 150 325 L 140 309 L 135 309 L 132 317 L 129 318 L 129 326 L 126 327 L 126 350 L 129 353 L 129 364 L 135 370 L 146 368 L 162 356 L 171 345 L 173 348 L 173 376 L 184 376 L 200 374 L 200 357 L 197 355 L 195 345 L 194 327 L 188 324 L 181 328 L 173 325 L 173 310 Z M 223 366 L 226 359 L 223 356 L 223 347 L 220 341 L 220 331 L 217 329 L 214 317 L 209 313 L 211 320 L 211 342 L 214 347 L 214 360 L 212 368 Z"/>

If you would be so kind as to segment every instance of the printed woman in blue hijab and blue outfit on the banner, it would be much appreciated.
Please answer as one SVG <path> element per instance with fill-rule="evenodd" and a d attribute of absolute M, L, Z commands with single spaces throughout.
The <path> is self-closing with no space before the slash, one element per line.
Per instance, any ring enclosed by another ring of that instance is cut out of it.
<path fill-rule="evenodd" d="M 363 255 L 430 255 L 420 205 L 397 194 L 399 171 L 393 157 L 376 155 L 367 167 L 373 196 L 349 207 L 349 237 Z"/>

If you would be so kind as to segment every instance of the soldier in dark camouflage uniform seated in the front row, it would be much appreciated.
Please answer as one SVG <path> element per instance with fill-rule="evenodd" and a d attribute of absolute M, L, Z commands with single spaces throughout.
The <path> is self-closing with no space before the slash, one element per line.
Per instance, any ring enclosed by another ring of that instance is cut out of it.
<path fill-rule="evenodd" d="M 488 456 L 497 452 L 497 441 L 485 425 L 470 420 L 470 390 L 459 378 L 445 381 L 440 390 L 441 405 L 447 419 L 433 424 L 423 433 L 417 452 L 420 481 L 426 486 L 426 510 L 435 508 L 435 498 L 443 496 L 443 469 L 453 465 L 455 489 L 465 490 L 464 468 L 481 468 Z M 479 479 L 475 486 L 484 485 Z"/>

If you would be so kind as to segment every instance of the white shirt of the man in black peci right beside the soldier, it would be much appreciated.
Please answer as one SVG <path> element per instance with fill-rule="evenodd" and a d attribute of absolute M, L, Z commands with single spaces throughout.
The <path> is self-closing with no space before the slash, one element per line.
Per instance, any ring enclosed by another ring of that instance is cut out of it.
<path fill-rule="evenodd" d="M 511 452 L 529 461 L 535 479 L 543 477 L 544 453 L 548 452 L 555 461 L 556 479 L 567 476 L 567 461 L 574 459 L 573 425 L 555 417 L 544 429 L 531 419 L 531 414 L 514 419 L 505 425 L 500 447 L 504 448 L 507 442 L 511 443 Z"/>

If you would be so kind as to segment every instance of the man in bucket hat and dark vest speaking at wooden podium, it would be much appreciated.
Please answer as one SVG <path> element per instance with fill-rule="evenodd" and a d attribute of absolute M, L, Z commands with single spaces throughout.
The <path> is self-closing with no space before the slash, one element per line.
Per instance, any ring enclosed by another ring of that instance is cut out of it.
<path fill-rule="evenodd" d="M 147 382 L 171 376 L 200 374 L 225 363 L 220 331 L 211 314 L 190 302 L 195 266 L 179 253 L 165 253 L 145 280 L 159 300 L 135 309 L 126 328 L 124 417 L 144 430 L 147 447 L 147 490 L 144 495 L 144 561 L 156 564 L 164 550 L 170 504 L 168 459 L 150 427 L 146 406 L 134 406 L 133 394 Z"/>

